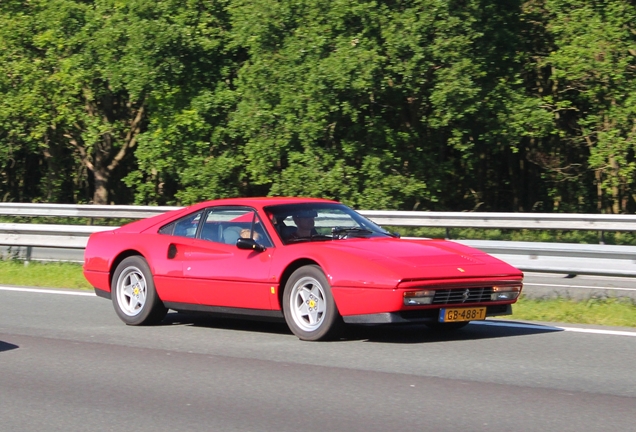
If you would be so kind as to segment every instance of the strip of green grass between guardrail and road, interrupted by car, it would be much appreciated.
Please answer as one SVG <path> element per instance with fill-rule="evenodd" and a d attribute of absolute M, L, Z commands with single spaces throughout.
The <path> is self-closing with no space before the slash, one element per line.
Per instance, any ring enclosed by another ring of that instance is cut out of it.
<path fill-rule="evenodd" d="M 0 284 L 91 290 L 82 266 L 73 263 L 0 261 Z M 521 298 L 514 305 L 517 320 L 636 327 L 636 304 L 630 299 L 535 300 Z"/>

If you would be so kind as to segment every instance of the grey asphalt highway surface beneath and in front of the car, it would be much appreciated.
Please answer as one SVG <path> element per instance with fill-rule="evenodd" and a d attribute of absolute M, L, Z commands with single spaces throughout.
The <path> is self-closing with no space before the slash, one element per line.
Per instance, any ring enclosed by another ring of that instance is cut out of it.
<path fill-rule="evenodd" d="M 539 282 L 537 282 L 539 283 Z M 627 431 L 636 329 L 489 320 L 451 335 L 171 313 L 0 287 L 0 431 Z"/>

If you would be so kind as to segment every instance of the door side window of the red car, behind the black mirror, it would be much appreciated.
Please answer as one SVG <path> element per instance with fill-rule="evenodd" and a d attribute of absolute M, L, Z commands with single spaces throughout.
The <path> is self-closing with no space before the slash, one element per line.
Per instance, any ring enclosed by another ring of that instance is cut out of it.
<path fill-rule="evenodd" d="M 207 213 L 201 227 L 203 240 L 235 245 L 240 237 L 252 238 L 265 247 L 273 246 L 254 210 L 216 207 Z"/>

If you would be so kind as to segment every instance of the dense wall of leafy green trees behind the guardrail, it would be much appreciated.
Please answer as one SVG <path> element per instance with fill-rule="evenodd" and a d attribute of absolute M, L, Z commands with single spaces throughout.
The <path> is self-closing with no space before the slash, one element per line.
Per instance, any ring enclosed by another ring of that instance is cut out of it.
<path fill-rule="evenodd" d="M 3 200 L 633 212 L 627 0 L 6 0 Z"/>

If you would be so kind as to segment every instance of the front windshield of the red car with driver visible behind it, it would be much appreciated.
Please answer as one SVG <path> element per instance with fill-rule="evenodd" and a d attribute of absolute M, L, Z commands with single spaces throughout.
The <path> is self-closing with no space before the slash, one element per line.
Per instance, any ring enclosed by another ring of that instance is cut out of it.
<path fill-rule="evenodd" d="M 285 244 L 390 236 L 344 204 L 286 204 L 266 207 L 265 211 Z"/>

